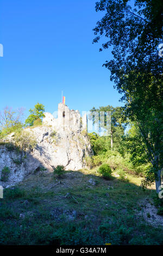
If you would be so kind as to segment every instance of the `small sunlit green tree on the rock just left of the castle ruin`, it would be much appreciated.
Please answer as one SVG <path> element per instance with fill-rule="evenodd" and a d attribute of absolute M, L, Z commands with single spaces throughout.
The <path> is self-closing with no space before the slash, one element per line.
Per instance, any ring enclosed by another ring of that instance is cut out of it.
<path fill-rule="evenodd" d="M 45 106 L 43 106 L 42 104 L 40 104 L 38 102 L 35 105 L 34 109 L 31 109 L 31 108 L 29 109 L 29 112 L 30 112 L 30 115 L 26 119 L 25 123 L 26 123 L 26 125 L 33 126 L 35 120 L 37 120 L 37 119 L 42 120 L 42 117 L 45 117 L 45 115 L 43 114 L 43 112 L 45 112 Z"/>

